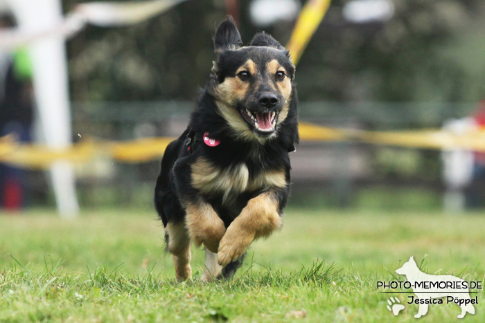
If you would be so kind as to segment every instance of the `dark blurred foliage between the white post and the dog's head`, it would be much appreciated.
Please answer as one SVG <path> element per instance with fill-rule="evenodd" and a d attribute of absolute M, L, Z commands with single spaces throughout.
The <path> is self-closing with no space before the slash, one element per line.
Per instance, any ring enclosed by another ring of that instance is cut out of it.
<path fill-rule="evenodd" d="M 78 2 L 64 0 L 64 8 Z M 135 26 L 89 26 L 69 41 L 73 99 L 195 98 L 211 71 L 211 35 L 224 9 L 224 0 L 187 1 Z"/>

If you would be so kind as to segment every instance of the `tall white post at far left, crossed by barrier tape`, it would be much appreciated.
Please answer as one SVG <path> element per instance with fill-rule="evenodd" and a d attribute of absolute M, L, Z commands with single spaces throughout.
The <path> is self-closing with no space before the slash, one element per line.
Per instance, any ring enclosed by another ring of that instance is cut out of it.
<path fill-rule="evenodd" d="M 28 32 L 48 30 L 62 21 L 60 0 L 8 0 L 19 27 Z M 29 46 L 33 63 L 33 87 L 46 145 L 62 149 L 71 145 L 71 111 L 64 37 L 49 36 Z M 51 181 L 62 217 L 79 212 L 76 178 L 67 161 L 51 167 Z"/>

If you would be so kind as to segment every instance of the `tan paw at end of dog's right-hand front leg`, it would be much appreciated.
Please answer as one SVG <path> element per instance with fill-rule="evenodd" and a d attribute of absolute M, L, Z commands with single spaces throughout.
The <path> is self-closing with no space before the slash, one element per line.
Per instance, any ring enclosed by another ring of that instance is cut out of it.
<path fill-rule="evenodd" d="M 254 234 L 236 233 L 236 230 L 230 230 L 230 228 L 219 244 L 218 261 L 223 267 L 241 257 L 254 239 Z"/>

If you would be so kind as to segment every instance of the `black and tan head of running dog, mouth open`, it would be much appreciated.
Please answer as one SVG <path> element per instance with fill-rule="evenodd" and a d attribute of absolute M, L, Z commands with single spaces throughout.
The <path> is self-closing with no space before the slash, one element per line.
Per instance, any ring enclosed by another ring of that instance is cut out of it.
<path fill-rule="evenodd" d="M 217 28 L 214 48 L 212 92 L 218 113 L 242 138 L 261 141 L 275 136 L 294 95 L 288 50 L 265 33 L 243 46 L 231 18 Z"/>

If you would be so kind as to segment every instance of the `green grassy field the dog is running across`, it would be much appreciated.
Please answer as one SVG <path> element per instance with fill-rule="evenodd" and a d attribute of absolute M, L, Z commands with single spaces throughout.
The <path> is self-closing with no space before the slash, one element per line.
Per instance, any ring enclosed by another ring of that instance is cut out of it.
<path fill-rule="evenodd" d="M 428 273 L 483 282 L 484 228 L 484 214 L 288 210 L 236 277 L 200 282 L 203 252 L 193 250 L 193 280 L 181 284 L 152 212 L 0 215 L 0 322 L 414 322 L 412 294 L 379 293 L 376 282 L 411 255 Z M 406 306 L 398 316 L 389 295 Z M 465 322 L 485 320 L 484 293 L 475 295 Z M 459 313 L 431 305 L 419 320 Z"/>

